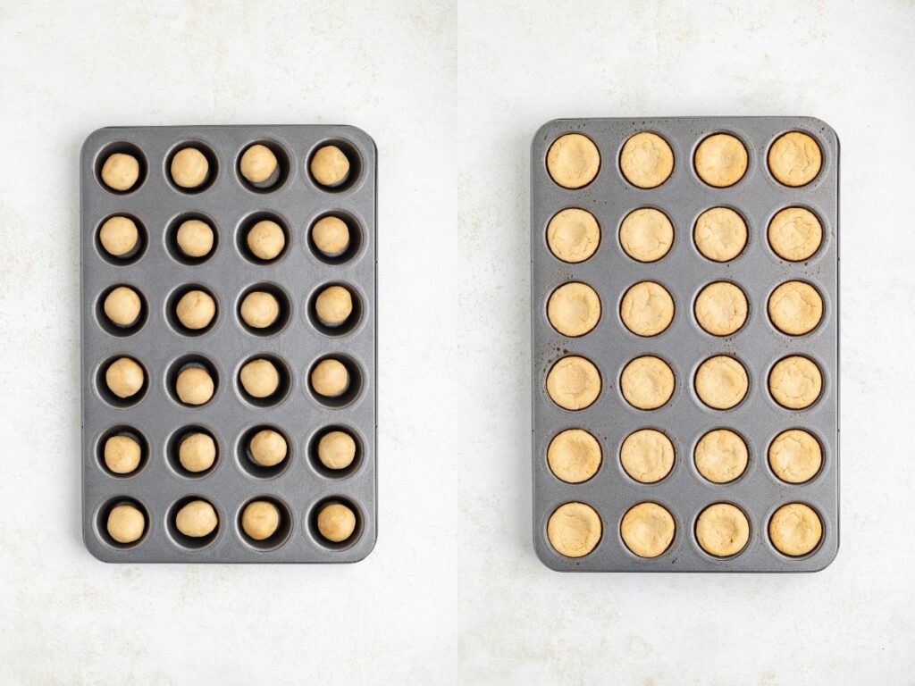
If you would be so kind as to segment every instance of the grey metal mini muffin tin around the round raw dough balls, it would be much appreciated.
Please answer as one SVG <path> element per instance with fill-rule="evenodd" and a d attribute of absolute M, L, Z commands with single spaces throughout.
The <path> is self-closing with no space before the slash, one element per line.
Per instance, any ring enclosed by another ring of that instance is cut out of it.
<path fill-rule="evenodd" d="M 270 147 L 278 177 L 269 188 L 249 184 L 239 173 L 242 152 L 255 143 Z M 339 187 L 318 186 L 308 171 L 322 145 L 337 145 L 350 160 Z M 193 145 L 207 157 L 210 177 L 201 188 L 178 188 L 169 162 Z M 140 163 L 134 188 L 115 192 L 100 173 L 108 155 L 127 152 Z M 375 188 L 376 151 L 371 137 L 350 126 L 168 126 L 104 128 L 91 134 L 81 153 L 82 252 L 82 499 L 83 538 L 100 560 L 119 563 L 343 563 L 371 552 L 376 538 L 375 463 Z M 135 220 L 140 241 L 124 259 L 99 242 L 102 222 L 114 215 Z M 350 248 L 337 257 L 317 251 L 311 226 L 334 215 L 350 229 Z M 215 246 L 206 258 L 178 251 L 175 231 L 186 219 L 206 220 Z M 244 231 L 254 221 L 274 219 L 286 234 L 285 250 L 270 263 L 247 251 Z M 102 299 L 114 285 L 128 284 L 141 296 L 143 314 L 134 326 L 113 327 Z M 318 292 L 344 284 L 353 295 L 350 323 L 325 327 L 313 311 Z M 174 316 L 188 286 L 217 302 L 215 323 L 189 331 Z M 256 330 L 242 324 L 243 295 L 255 285 L 278 295 L 280 321 Z M 140 362 L 145 386 L 137 398 L 118 401 L 104 371 L 121 356 Z M 310 389 L 309 370 L 332 357 L 350 370 L 350 388 L 335 399 Z M 256 401 L 245 396 L 239 370 L 250 359 L 272 359 L 281 371 L 280 391 Z M 211 370 L 216 392 L 210 402 L 178 402 L 174 381 L 187 364 Z M 247 438 L 257 427 L 284 434 L 288 455 L 263 468 L 247 456 Z M 178 462 L 184 432 L 199 427 L 215 438 L 218 455 L 208 471 L 192 475 Z M 320 437 L 349 432 L 357 445 L 352 466 L 339 472 L 318 460 Z M 135 472 L 119 476 L 102 459 L 105 439 L 132 434 L 143 448 Z M 204 539 L 177 531 L 174 518 L 190 499 L 208 500 L 219 528 Z M 242 531 L 243 507 L 254 499 L 278 506 L 283 521 L 267 541 Z M 334 543 L 317 529 L 318 510 L 343 502 L 356 514 L 350 539 Z M 119 503 L 145 513 L 146 529 L 122 545 L 106 531 L 106 517 Z"/>

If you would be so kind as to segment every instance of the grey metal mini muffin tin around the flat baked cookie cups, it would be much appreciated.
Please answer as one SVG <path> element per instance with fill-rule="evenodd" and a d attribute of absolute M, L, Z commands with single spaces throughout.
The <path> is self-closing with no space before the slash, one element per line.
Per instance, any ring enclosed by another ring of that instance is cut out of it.
<path fill-rule="evenodd" d="M 823 163 L 807 186 L 789 188 L 770 173 L 767 155 L 781 135 L 800 131 L 813 136 Z M 673 174 L 661 186 L 641 189 L 622 175 L 619 156 L 634 134 L 662 136 L 673 149 Z M 567 189 L 550 176 L 546 158 L 563 134 L 583 134 L 600 152 L 597 177 L 584 188 Z M 748 151 L 748 169 L 730 188 L 706 185 L 694 169 L 694 152 L 706 136 L 737 136 Z M 838 139 L 827 124 L 808 117 L 684 117 L 650 119 L 555 120 L 535 134 L 532 146 L 532 319 L 533 319 L 533 542 L 540 559 L 555 570 L 594 572 L 813 572 L 834 559 L 839 543 L 838 511 Z M 727 263 L 706 259 L 693 239 L 694 223 L 706 209 L 737 210 L 747 222 L 748 242 Z M 770 248 L 770 220 L 788 207 L 810 209 L 823 225 L 823 242 L 805 262 L 780 259 Z M 601 229 L 600 243 L 590 259 L 564 263 L 550 251 L 546 239 L 549 221 L 567 208 L 587 209 Z M 655 263 L 639 263 L 620 246 L 622 220 L 634 209 L 660 209 L 672 222 L 673 247 Z M 813 332 L 800 337 L 782 334 L 770 322 L 770 293 L 786 281 L 813 284 L 823 297 L 823 319 Z M 580 281 L 597 290 L 602 304 L 600 321 L 580 338 L 566 338 L 551 326 L 546 305 L 554 290 Z M 661 334 L 642 338 L 622 323 L 619 306 L 631 285 L 641 281 L 662 284 L 673 295 L 673 323 Z M 727 281 L 748 296 L 748 319 L 737 333 L 718 338 L 706 333 L 694 317 L 694 301 L 706 284 Z M 729 411 L 705 406 L 696 395 L 698 366 L 716 355 L 741 360 L 748 371 L 749 391 Z M 790 411 L 775 402 L 768 376 L 773 365 L 789 355 L 813 359 L 823 374 L 819 400 L 802 411 Z M 581 411 L 567 411 L 546 391 L 547 374 L 566 355 L 591 360 L 600 372 L 602 389 L 597 401 Z M 673 369 L 673 396 L 660 409 L 640 411 L 619 390 L 622 370 L 631 360 L 653 355 Z M 582 428 L 593 434 L 602 449 L 594 477 L 569 484 L 554 476 L 547 448 L 556 434 Z M 641 484 L 620 465 L 620 446 L 643 428 L 666 434 L 673 442 L 673 469 L 655 484 Z M 749 462 L 743 475 L 727 484 L 702 477 L 694 464 L 694 448 L 707 432 L 729 428 L 748 445 Z M 823 448 L 823 466 L 801 485 L 780 481 L 769 466 L 769 445 L 791 428 L 813 434 Z M 583 502 L 597 510 L 601 540 L 589 554 L 566 557 L 554 550 L 547 522 L 568 502 Z M 620 533 L 624 514 L 641 502 L 655 502 L 673 515 L 676 531 L 670 547 L 655 558 L 636 556 Z M 747 515 L 749 541 L 742 552 L 717 558 L 705 552 L 695 538 L 695 522 L 709 505 L 725 502 Z M 802 557 L 789 557 L 773 546 L 769 521 L 780 506 L 801 502 L 812 507 L 823 523 L 819 545 Z"/>

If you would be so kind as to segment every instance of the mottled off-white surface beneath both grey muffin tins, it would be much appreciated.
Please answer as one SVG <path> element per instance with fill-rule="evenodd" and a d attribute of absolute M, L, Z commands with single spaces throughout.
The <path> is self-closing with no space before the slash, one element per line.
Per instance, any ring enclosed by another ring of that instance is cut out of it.
<path fill-rule="evenodd" d="M 915 5 L 0 3 L 0 683 L 915 683 Z M 842 545 L 806 575 L 559 574 L 531 545 L 529 145 L 560 116 L 842 140 Z M 80 536 L 78 153 L 110 124 L 379 149 L 380 537 L 118 566 Z"/>

